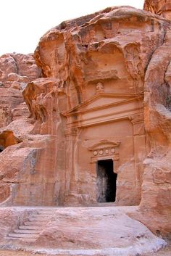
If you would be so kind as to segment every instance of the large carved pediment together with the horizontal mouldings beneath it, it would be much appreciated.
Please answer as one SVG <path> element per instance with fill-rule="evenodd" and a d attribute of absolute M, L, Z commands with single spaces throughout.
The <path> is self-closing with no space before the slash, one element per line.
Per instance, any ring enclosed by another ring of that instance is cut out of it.
<path fill-rule="evenodd" d="M 139 112 L 143 112 L 142 96 L 102 92 L 62 115 L 67 117 L 68 127 L 86 127 L 129 118 Z"/>

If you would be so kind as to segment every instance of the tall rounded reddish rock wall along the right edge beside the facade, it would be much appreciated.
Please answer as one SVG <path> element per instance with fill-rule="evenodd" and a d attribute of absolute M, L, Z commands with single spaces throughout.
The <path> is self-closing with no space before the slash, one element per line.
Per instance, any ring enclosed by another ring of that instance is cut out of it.
<path fill-rule="evenodd" d="M 141 221 L 153 231 L 170 236 L 171 231 L 171 166 L 170 166 L 170 60 L 171 33 L 167 30 L 164 44 L 154 52 L 144 83 L 144 123 L 151 152 L 144 164 Z M 153 219 L 150 220 L 150 216 Z M 140 219 L 140 218 L 138 218 Z"/>

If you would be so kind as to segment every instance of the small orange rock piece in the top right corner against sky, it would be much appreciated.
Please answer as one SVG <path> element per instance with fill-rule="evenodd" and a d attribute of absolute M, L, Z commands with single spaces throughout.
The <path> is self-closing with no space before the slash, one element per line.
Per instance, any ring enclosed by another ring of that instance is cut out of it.
<path fill-rule="evenodd" d="M 145 0 L 143 9 L 171 20 L 170 0 Z"/>

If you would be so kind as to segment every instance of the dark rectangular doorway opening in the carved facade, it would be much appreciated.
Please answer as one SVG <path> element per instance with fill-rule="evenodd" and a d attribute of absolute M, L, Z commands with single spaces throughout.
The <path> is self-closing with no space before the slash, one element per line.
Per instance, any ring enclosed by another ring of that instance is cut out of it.
<path fill-rule="evenodd" d="M 117 173 L 112 159 L 99 160 L 96 165 L 97 202 L 114 202 L 117 191 Z"/>

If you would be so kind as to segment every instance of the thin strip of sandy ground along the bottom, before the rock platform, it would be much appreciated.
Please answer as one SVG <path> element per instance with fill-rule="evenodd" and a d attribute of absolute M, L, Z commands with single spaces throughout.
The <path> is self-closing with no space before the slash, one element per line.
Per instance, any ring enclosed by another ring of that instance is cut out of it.
<path fill-rule="evenodd" d="M 33 256 L 33 255 L 34 256 L 51 256 L 51 255 L 47 255 L 47 254 L 44 255 L 39 253 L 34 254 L 31 252 L 0 250 L 0 256 Z M 60 256 L 69 256 L 69 255 L 60 255 Z M 159 252 L 154 252 L 150 254 L 148 253 L 147 255 L 141 255 L 141 256 L 171 256 L 171 245 L 170 247 L 162 249 Z"/>

